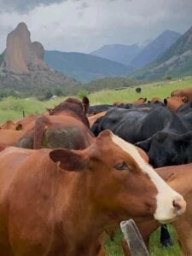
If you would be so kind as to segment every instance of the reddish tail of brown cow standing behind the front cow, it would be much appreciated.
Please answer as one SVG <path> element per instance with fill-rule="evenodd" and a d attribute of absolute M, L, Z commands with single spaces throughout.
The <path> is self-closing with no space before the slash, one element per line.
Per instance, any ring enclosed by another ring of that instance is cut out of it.
<path fill-rule="evenodd" d="M 33 142 L 34 149 L 41 148 L 44 131 L 47 129 L 48 125 L 49 125 L 49 119 L 47 119 L 46 116 L 41 116 L 38 119 L 36 119 L 35 127 L 34 127 L 34 142 Z"/>

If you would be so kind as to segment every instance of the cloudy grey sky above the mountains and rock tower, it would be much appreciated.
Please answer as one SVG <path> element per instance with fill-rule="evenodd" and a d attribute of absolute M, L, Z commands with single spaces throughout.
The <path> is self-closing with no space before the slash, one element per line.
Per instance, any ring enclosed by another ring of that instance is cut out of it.
<path fill-rule="evenodd" d="M 20 21 L 45 49 L 85 53 L 192 26 L 192 0 L 0 0 L 0 7 L 1 52 Z"/>

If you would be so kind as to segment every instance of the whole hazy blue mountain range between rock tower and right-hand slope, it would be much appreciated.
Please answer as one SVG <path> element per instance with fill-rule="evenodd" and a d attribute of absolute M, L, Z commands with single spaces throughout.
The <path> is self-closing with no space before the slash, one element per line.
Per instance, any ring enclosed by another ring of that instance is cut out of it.
<path fill-rule="evenodd" d="M 90 54 L 45 50 L 44 60 L 51 68 L 83 83 L 105 77 L 128 76 L 162 54 L 181 35 L 166 30 L 144 44 L 108 44 Z"/>

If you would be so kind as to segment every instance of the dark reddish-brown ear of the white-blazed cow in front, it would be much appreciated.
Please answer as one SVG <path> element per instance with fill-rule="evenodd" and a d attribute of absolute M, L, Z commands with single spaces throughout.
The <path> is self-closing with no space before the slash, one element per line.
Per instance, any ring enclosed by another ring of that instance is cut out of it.
<path fill-rule="evenodd" d="M 50 151 L 49 158 L 55 163 L 58 162 L 61 169 L 65 171 L 81 171 L 86 165 L 82 155 L 64 148 Z"/>

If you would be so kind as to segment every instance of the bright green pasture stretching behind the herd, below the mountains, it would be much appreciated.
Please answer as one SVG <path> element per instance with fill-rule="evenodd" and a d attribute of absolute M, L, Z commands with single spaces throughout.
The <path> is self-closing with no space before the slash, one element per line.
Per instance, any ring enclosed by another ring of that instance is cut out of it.
<path fill-rule="evenodd" d="M 113 102 L 132 102 L 139 97 L 147 97 L 148 100 L 152 97 L 165 98 L 170 96 L 172 90 L 180 88 L 192 87 L 192 77 L 185 77 L 181 80 L 171 80 L 155 82 L 151 84 L 139 85 L 142 88 L 141 93 L 136 92 L 136 87 L 129 87 L 124 90 L 100 90 L 91 93 L 89 96 L 90 105 L 113 103 Z M 30 113 L 42 113 L 46 108 L 54 108 L 55 105 L 62 102 L 65 98 L 58 97 L 47 102 L 39 102 L 34 98 L 16 99 L 14 97 L 3 98 L 0 101 L 0 122 L 8 119 L 22 118 L 22 111 L 26 115 Z"/>

